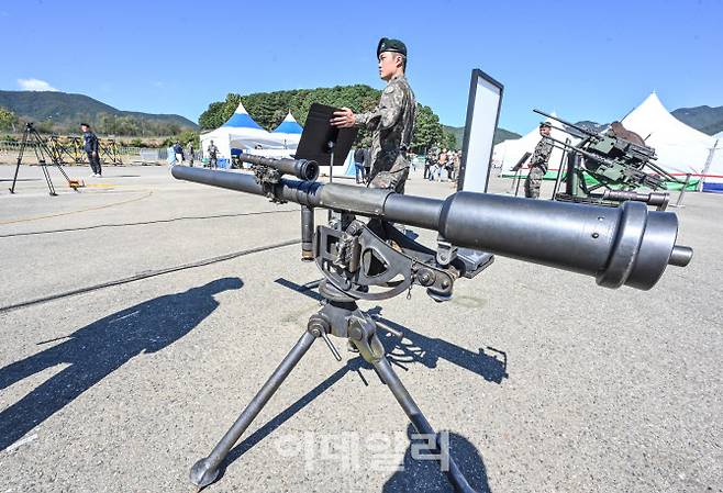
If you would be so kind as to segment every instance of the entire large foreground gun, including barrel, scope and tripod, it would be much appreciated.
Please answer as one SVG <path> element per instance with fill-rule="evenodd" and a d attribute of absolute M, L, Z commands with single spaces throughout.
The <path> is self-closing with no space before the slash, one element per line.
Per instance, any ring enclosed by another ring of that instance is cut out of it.
<path fill-rule="evenodd" d="M 335 336 L 358 350 L 416 430 L 433 438 L 434 453 L 440 463 L 448 466 L 445 472 L 455 489 L 472 492 L 385 356 L 377 336 L 383 326 L 359 310 L 357 300 L 392 298 L 413 285 L 425 288 L 435 301 L 449 300 L 455 281 L 478 274 L 492 262 L 493 254 L 592 276 L 608 288 L 643 290 L 650 289 L 668 265 L 683 267 L 692 257 L 690 248 L 676 245 L 676 215 L 648 211 L 638 202 L 611 209 L 471 192 L 437 200 L 319 183 L 313 181 L 319 172 L 313 161 L 244 154 L 241 160 L 254 164 L 254 175 L 183 166 L 175 166 L 171 173 L 181 180 L 266 195 L 274 202 L 299 203 L 301 257 L 314 260 L 322 271 L 319 292 L 324 302 L 233 426 L 211 453 L 192 467 L 190 479 L 198 488 L 216 480 L 234 444 L 314 340 L 324 339 L 341 361 L 330 338 Z M 314 227 L 316 208 L 332 212 L 326 225 Z M 436 248 L 414 242 L 392 222 L 437 232 Z"/>

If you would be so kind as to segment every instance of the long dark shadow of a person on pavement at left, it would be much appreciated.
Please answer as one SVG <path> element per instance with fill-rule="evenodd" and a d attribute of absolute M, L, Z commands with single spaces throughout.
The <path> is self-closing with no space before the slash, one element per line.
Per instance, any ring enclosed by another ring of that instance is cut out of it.
<path fill-rule="evenodd" d="M 69 340 L 0 369 L 0 390 L 57 365 L 69 365 L 0 413 L 0 450 L 22 438 L 104 377 L 142 352 L 155 352 L 192 330 L 218 306 L 214 294 L 243 287 L 223 278 L 103 317 Z"/>

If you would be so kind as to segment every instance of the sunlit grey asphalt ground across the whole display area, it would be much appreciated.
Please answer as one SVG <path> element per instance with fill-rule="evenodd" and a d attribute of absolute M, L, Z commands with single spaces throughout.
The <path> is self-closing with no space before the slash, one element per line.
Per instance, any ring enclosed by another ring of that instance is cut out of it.
<path fill-rule="evenodd" d="M 89 187 L 53 173 L 51 198 L 24 167 L 10 195 L 0 166 L 0 307 L 21 305 L 0 309 L 0 492 L 188 492 L 319 307 L 294 289 L 319 271 L 279 246 L 298 206 L 162 167 L 69 173 Z M 498 257 L 448 303 L 360 303 L 404 333 L 382 337 L 394 368 L 479 491 L 723 491 L 723 197 L 685 204 L 694 258 L 647 292 Z M 205 491 L 452 491 L 342 343 L 341 363 L 311 348 Z"/>

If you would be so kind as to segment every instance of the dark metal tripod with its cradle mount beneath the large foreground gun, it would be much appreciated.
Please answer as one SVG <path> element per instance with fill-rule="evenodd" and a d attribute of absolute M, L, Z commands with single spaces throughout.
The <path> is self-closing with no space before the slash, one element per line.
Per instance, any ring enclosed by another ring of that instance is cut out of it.
<path fill-rule="evenodd" d="M 311 225 L 307 224 L 309 221 L 307 217 L 302 229 L 310 228 Z M 452 298 L 455 279 L 460 276 L 476 276 L 491 264 L 492 256 L 449 249 L 444 240 L 440 240 L 438 249 L 434 251 L 413 242 L 393 226 L 377 221 L 364 224 L 353 216 L 341 214 L 341 217 L 334 219 L 333 222 L 338 222 L 335 227 L 318 227 L 313 245 L 313 258 L 326 278 L 319 287 L 324 302 L 322 309 L 311 315 L 307 330 L 299 341 L 211 453 L 193 464 L 190 472 L 191 483 L 201 489 L 216 480 L 220 466 L 234 444 L 318 338 L 323 338 L 334 358 L 342 360 L 329 338 L 333 335 L 347 339 L 347 344 L 374 367 L 416 432 L 430 444 L 427 457 L 440 462 L 441 469 L 455 489 L 463 493 L 474 492 L 459 467 L 449 457 L 448 441 L 434 432 L 391 368 L 377 336 L 375 320 L 359 310 L 356 300 L 392 298 L 409 291 L 412 284 L 419 284 L 425 287 L 427 294 L 434 300 L 446 301 Z M 372 287 L 385 288 L 387 291 L 371 291 L 369 288 Z"/>

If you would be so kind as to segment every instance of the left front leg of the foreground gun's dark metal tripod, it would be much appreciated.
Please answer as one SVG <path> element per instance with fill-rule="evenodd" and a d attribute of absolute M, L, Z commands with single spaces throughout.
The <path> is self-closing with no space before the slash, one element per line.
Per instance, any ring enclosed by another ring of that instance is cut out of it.
<path fill-rule="evenodd" d="M 254 399 L 252 399 L 233 426 L 216 444 L 209 457 L 201 459 L 193 464 L 190 473 L 191 483 L 198 488 L 203 488 L 215 481 L 219 477 L 219 464 L 225 459 L 231 448 L 236 441 L 238 441 L 238 438 L 241 438 L 243 433 L 256 418 L 258 413 L 260 413 L 278 388 L 281 386 L 283 380 L 286 380 L 289 373 L 291 373 L 293 367 L 296 367 L 303 355 L 307 354 L 319 335 L 312 333 L 311 329 L 303 333 L 299 341 L 293 348 L 291 348 L 278 368 L 274 370 L 274 373 L 271 373 L 266 383 L 264 383 L 262 390 L 259 390 Z"/>

